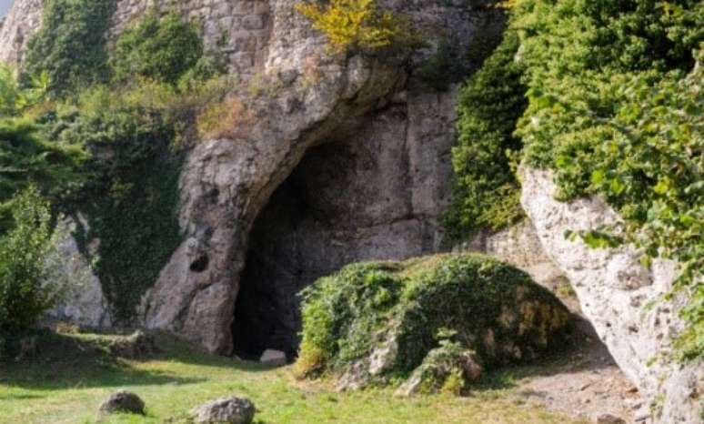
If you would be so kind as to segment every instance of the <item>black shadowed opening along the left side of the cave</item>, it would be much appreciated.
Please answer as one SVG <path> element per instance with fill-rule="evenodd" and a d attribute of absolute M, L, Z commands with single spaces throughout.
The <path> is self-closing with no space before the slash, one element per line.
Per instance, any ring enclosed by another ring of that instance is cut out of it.
<path fill-rule="evenodd" d="M 300 326 L 297 298 L 302 270 L 297 253 L 297 227 L 306 217 L 303 189 L 289 177 L 256 218 L 232 327 L 234 353 L 256 360 L 266 349 L 295 358 Z"/>

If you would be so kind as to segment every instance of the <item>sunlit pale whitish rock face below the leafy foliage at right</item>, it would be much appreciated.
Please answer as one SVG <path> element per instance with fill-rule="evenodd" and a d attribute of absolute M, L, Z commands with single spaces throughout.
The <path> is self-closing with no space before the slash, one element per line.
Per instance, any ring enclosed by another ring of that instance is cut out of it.
<path fill-rule="evenodd" d="M 704 367 L 671 363 L 672 336 L 682 328 L 678 300 L 651 301 L 672 288 L 676 265 L 656 260 L 651 269 L 629 247 L 591 249 L 565 237 L 567 230 L 588 230 L 617 222 L 617 214 L 596 197 L 571 203 L 555 200 L 550 173 L 525 169 L 522 204 L 548 255 L 564 270 L 583 313 L 596 328 L 619 367 L 643 394 L 661 408 L 659 422 L 700 422 Z M 664 358 L 664 359 L 663 359 Z"/>

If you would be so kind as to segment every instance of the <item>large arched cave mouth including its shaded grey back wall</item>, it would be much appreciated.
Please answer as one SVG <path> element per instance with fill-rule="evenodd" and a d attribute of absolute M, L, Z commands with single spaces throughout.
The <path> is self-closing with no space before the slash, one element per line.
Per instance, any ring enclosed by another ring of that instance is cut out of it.
<path fill-rule="evenodd" d="M 440 248 L 454 138 L 401 143 L 407 121 L 406 106 L 392 106 L 365 126 L 337 132 L 277 187 L 249 236 L 232 325 L 237 356 L 258 359 L 277 349 L 296 358 L 298 293 L 317 278 L 352 262 Z"/>

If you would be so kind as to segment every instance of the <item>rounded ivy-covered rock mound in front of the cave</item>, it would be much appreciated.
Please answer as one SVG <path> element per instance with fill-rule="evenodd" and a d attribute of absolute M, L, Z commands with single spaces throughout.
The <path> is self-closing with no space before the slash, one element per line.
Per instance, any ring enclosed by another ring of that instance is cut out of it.
<path fill-rule="evenodd" d="M 461 393 L 483 369 L 564 341 L 569 319 L 527 274 L 481 255 L 354 264 L 303 296 L 297 375 L 341 389 L 407 379 L 405 393 Z"/>

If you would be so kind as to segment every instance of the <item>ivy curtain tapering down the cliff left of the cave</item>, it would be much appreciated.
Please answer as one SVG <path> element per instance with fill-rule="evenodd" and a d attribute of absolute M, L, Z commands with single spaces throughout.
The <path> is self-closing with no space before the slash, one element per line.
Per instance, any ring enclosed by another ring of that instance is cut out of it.
<path fill-rule="evenodd" d="M 60 108 L 51 136 L 91 152 L 85 187 L 73 210 L 88 217 L 79 241 L 100 239 L 96 272 L 117 318 L 128 320 L 181 241 L 176 219 L 181 158 L 169 150 L 175 127 L 166 119 L 173 88 L 147 84 L 114 93 L 86 91 Z"/>

